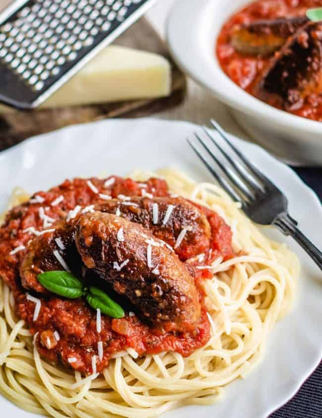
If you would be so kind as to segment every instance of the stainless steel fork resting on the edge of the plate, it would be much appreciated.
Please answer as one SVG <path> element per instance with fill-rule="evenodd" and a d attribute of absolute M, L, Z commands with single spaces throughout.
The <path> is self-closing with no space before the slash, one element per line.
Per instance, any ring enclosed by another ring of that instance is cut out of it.
<path fill-rule="evenodd" d="M 200 152 L 187 139 L 198 157 L 232 199 L 241 203 L 243 211 L 252 221 L 260 225 L 274 225 L 285 235 L 291 235 L 322 270 L 322 252 L 297 228 L 298 223 L 288 214 L 286 196 L 231 143 L 214 120 L 211 123 L 225 146 L 218 143 L 207 127 L 203 127 L 206 139 L 197 133 L 195 137 L 206 153 Z M 219 151 L 218 156 L 212 147 Z"/>

